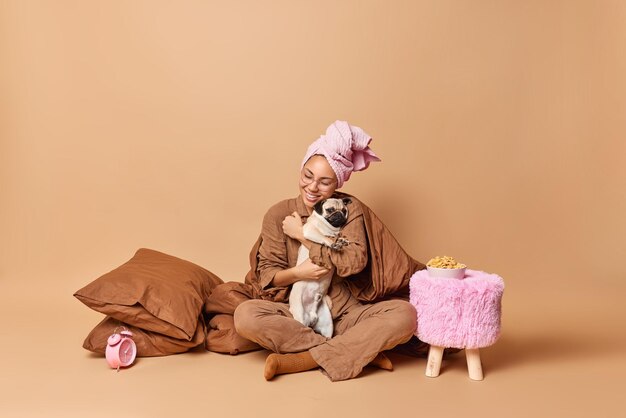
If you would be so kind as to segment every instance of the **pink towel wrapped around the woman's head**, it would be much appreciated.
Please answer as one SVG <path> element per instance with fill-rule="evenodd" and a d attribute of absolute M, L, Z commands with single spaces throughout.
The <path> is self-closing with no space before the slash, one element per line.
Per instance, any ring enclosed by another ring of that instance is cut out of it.
<path fill-rule="evenodd" d="M 306 151 L 302 167 L 315 154 L 326 157 L 337 175 L 337 188 L 350 178 L 353 171 L 365 170 L 372 161 L 380 158 L 369 148 L 372 137 L 358 126 L 345 121 L 335 121 Z"/>

